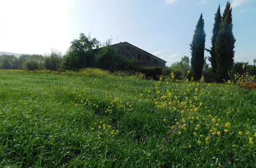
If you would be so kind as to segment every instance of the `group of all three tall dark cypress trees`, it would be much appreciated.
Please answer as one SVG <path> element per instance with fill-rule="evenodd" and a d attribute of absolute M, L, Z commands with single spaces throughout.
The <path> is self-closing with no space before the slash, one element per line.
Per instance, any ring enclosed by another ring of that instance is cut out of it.
<path fill-rule="evenodd" d="M 229 71 L 234 65 L 234 43 L 236 39 L 232 33 L 232 8 L 227 2 L 226 8 L 221 15 L 220 6 L 215 14 L 214 28 L 212 29 L 211 48 L 205 48 L 204 19 L 200 15 L 193 41 L 190 44 L 191 50 L 191 75 L 194 80 L 202 77 L 203 65 L 206 60 L 204 50 L 210 53 L 208 60 L 212 67 L 212 73 L 217 82 L 224 82 L 230 79 Z"/>

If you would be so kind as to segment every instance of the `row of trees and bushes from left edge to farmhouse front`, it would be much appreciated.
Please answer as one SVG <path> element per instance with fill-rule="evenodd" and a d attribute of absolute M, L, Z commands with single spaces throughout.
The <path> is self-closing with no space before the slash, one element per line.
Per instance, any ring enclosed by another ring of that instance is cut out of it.
<path fill-rule="evenodd" d="M 52 50 L 50 54 L 0 55 L 0 69 L 49 69 L 79 70 L 82 68 L 100 68 L 111 72 L 117 70 L 134 70 L 136 60 L 125 59 L 117 50 L 110 47 L 111 40 L 100 43 L 96 38 L 80 34 L 79 39 L 71 42 L 67 53 Z"/>

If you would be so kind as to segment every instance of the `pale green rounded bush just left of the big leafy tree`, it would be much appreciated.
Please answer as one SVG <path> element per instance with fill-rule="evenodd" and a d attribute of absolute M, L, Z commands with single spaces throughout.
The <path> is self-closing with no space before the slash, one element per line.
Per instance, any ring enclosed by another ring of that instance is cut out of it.
<path fill-rule="evenodd" d="M 56 71 L 62 66 L 62 62 L 63 60 L 61 53 L 52 50 L 49 56 L 46 55 L 45 68 L 52 71 Z"/>

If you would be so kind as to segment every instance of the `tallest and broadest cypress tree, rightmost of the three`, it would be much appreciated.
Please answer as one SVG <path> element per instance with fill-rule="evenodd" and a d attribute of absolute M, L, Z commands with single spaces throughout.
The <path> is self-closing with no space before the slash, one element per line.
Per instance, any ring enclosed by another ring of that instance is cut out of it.
<path fill-rule="evenodd" d="M 227 2 L 214 46 L 217 82 L 228 80 L 228 71 L 230 71 L 233 66 L 233 49 L 236 39 L 233 36 L 232 29 L 232 8 L 230 8 L 230 3 Z"/>

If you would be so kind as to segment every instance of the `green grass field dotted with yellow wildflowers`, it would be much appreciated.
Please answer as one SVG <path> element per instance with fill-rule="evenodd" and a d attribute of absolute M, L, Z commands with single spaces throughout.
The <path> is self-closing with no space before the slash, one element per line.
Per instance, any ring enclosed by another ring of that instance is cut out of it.
<path fill-rule="evenodd" d="M 0 167 L 256 167 L 256 90 L 0 70 Z"/>

